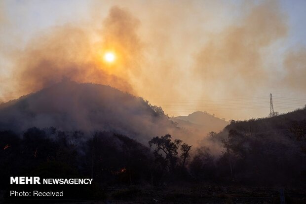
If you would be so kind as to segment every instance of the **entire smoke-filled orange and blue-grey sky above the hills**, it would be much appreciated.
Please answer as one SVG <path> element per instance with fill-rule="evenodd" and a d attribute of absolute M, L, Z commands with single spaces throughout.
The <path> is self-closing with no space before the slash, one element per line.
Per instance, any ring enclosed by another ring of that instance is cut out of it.
<path fill-rule="evenodd" d="M 169 116 L 235 120 L 306 104 L 305 0 L 1 0 L 0 101 L 63 77 Z M 106 52 L 116 60 L 103 60 Z"/>

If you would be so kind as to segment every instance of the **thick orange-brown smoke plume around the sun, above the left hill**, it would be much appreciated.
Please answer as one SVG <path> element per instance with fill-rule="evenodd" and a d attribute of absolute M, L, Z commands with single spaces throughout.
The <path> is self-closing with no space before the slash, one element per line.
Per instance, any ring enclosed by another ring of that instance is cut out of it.
<path fill-rule="evenodd" d="M 112 7 L 100 30 L 66 24 L 37 34 L 14 56 L 15 94 L 38 91 L 64 77 L 77 82 L 109 84 L 133 93 L 125 77 L 135 67 L 130 56 L 139 57 L 141 52 L 136 34 L 138 23 L 124 9 Z M 114 66 L 103 62 L 103 53 L 108 50 L 121 53 Z"/>

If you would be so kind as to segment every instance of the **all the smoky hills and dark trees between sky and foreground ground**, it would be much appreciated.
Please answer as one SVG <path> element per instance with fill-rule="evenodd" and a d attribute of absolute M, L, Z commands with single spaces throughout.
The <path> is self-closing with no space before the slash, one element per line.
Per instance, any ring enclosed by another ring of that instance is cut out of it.
<path fill-rule="evenodd" d="M 74 199 L 74 192 L 105 199 L 110 192 L 103 186 L 113 185 L 303 188 L 305 120 L 304 108 L 232 120 L 218 133 L 213 130 L 228 123 L 209 113 L 169 118 L 161 107 L 110 86 L 64 79 L 0 105 L 0 175 L 94 178 L 91 189 L 65 188 Z M 203 127 L 212 131 L 204 135 Z M 113 198 L 141 192 L 131 187 Z"/>

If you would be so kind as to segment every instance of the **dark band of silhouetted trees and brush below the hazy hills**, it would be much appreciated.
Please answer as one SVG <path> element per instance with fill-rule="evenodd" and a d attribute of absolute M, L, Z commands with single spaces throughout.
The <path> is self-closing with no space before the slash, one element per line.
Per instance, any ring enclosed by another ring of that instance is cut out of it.
<path fill-rule="evenodd" d="M 92 190 L 84 187 L 79 196 L 96 199 L 105 198 L 101 185 L 115 184 L 208 182 L 301 188 L 306 181 L 306 127 L 305 119 L 294 120 L 297 115 L 305 118 L 306 109 L 273 118 L 232 121 L 222 132 L 209 134 L 208 140 L 223 145 L 219 155 L 211 153 L 209 143 L 193 148 L 170 135 L 153 137 L 150 148 L 130 135 L 114 132 L 86 136 L 54 127 L 33 127 L 20 134 L 0 131 L 1 180 L 25 173 L 92 177 L 98 185 Z M 7 186 L 2 183 L 1 188 Z M 66 191 L 73 197 L 74 189 Z"/>

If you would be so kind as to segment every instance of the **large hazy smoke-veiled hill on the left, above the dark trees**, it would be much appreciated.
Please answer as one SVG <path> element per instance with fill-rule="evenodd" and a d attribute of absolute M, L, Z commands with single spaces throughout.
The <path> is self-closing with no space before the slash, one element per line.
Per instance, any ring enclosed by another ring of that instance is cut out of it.
<path fill-rule="evenodd" d="M 0 105 L 0 130 L 22 132 L 33 126 L 113 131 L 145 143 L 177 131 L 172 121 L 141 98 L 110 86 L 70 80 Z"/>

